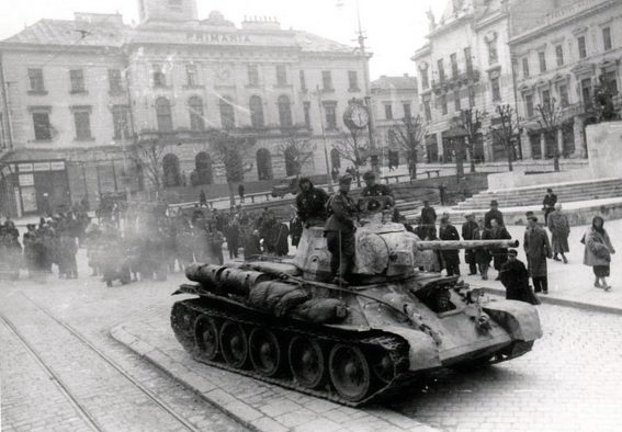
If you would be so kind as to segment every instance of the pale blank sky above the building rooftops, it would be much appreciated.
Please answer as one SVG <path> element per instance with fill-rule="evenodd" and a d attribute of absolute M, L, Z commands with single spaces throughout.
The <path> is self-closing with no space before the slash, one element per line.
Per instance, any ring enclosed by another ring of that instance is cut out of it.
<path fill-rule="evenodd" d="M 245 15 L 276 16 L 283 29 L 294 27 L 354 44 L 355 0 L 196 0 L 199 18 L 219 10 L 239 26 Z M 437 21 L 448 0 L 360 0 L 361 21 L 374 53 L 372 78 L 415 75 L 410 57 L 425 42 L 431 5 Z M 114 13 L 126 23 L 138 21 L 137 0 L 0 0 L 0 39 L 42 18 L 71 20 L 73 12 Z M 338 5 L 341 4 L 341 5 Z"/>

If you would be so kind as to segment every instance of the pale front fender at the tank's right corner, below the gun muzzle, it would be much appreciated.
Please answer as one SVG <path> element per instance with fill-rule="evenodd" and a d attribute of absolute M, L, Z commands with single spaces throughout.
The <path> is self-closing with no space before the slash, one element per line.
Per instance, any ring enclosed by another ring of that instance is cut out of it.
<path fill-rule="evenodd" d="M 514 340 L 527 342 L 542 338 L 538 310 L 528 303 L 496 300 L 482 305 L 482 308 Z"/>

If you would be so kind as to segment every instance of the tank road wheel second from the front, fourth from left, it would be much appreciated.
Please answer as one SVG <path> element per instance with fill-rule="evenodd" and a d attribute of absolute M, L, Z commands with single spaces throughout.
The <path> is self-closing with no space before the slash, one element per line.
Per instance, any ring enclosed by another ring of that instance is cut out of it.
<path fill-rule="evenodd" d="M 305 337 L 295 337 L 290 343 L 290 368 L 298 384 L 317 388 L 324 382 L 325 362 L 319 344 Z"/>

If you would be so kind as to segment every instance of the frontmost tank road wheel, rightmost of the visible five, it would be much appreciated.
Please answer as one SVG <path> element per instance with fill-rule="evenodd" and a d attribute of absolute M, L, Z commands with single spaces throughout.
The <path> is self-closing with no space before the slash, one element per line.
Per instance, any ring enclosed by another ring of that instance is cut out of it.
<path fill-rule="evenodd" d="M 328 359 L 330 380 L 343 399 L 358 402 L 370 390 L 370 365 L 357 346 L 337 344 Z"/>

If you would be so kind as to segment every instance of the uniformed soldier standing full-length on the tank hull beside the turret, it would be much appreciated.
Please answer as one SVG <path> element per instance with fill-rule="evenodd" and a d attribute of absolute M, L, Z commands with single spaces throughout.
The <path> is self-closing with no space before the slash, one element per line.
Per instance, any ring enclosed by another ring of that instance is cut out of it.
<path fill-rule="evenodd" d="M 358 209 L 354 201 L 348 196 L 352 177 L 347 174 L 339 179 L 339 192 L 330 197 L 327 211 L 330 215 L 326 221 L 326 243 L 330 252 L 330 272 L 332 283 L 348 285 L 347 277 L 354 265 L 354 221 Z"/>

